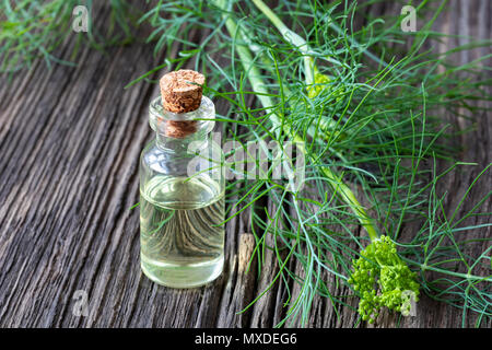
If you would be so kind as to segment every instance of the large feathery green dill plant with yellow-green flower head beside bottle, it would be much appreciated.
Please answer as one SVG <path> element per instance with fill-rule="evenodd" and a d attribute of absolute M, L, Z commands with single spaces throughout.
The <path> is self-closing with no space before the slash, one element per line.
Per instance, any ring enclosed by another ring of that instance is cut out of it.
<path fill-rule="evenodd" d="M 464 325 L 469 311 L 478 315 L 477 325 L 492 317 L 491 247 L 466 253 L 477 241 L 491 238 L 464 238 L 489 226 L 465 223 L 490 214 L 479 209 L 491 192 L 456 218 L 490 166 L 450 217 L 443 205 L 446 196 L 436 189 L 456 167 L 473 165 L 453 160 L 453 130 L 443 122 L 443 110 L 475 113 L 482 107 L 470 102 L 491 100 L 491 81 L 480 74 L 490 70 L 480 66 L 490 55 L 462 66 L 448 57 L 490 43 L 442 54 L 426 49 L 430 39 L 441 36 L 431 25 L 445 3 L 412 35 L 408 50 L 398 49 L 409 38 L 398 16 L 368 20 L 358 31 L 353 20 L 364 18 L 364 8 L 349 1 L 283 1 L 274 10 L 260 0 L 160 1 L 142 16 L 154 27 L 149 40 L 156 40 L 155 52 L 179 43 L 179 54 L 133 83 L 191 60 L 209 77 L 208 92 L 230 104 L 219 118 L 225 137 L 242 144 L 268 139 L 302 144 L 302 191 L 271 178 L 237 179 L 227 187 L 230 198 L 238 198 L 230 200 L 229 212 L 237 210 L 227 220 L 251 209 L 258 266 L 266 249 L 278 259 L 278 273 L 251 302 L 283 282 L 289 308 L 277 326 L 296 318 L 305 324 L 316 294 L 329 298 L 337 313 L 340 306 L 351 307 L 347 295 L 332 294 L 325 272 L 354 289 L 361 316 L 371 322 L 382 306 L 407 314 L 403 290 L 461 307 Z M 191 31 L 206 33 L 204 39 L 190 42 Z M 272 164 L 272 154 L 268 158 Z M 438 173 L 437 162 L 452 166 Z M 267 197 L 277 211 L 262 207 Z M 415 222 L 417 232 L 401 241 L 402 229 Z M 358 233 L 358 224 L 367 235 Z M 302 275 L 289 268 L 291 259 L 302 265 Z M 297 295 L 289 280 L 300 284 Z"/>

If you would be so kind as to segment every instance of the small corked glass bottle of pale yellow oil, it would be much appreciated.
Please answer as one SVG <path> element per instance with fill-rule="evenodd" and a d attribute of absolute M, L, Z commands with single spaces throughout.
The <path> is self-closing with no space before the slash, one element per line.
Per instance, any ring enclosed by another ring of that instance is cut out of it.
<path fill-rule="evenodd" d="M 191 70 L 161 79 L 161 97 L 150 105 L 156 137 L 140 158 L 141 268 L 172 288 L 208 283 L 224 265 L 225 180 L 203 83 Z"/>

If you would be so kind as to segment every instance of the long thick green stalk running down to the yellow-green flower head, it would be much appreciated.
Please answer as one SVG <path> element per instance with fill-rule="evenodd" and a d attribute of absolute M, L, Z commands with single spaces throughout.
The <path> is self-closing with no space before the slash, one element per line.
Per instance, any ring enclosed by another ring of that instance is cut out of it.
<path fill-rule="evenodd" d="M 238 33 L 236 23 L 229 18 L 226 14 L 226 8 L 225 8 L 225 0 L 214 0 L 215 4 L 224 11 L 223 16 L 225 20 L 225 26 L 231 35 L 231 37 L 236 36 Z M 278 129 L 283 129 L 283 131 L 286 135 L 290 135 L 294 142 L 300 145 L 301 151 L 306 155 L 306 151 L 304 149 L 304 141 L 298 137 L 291 128 L 290 122 L 285 120 L 284 118 L 281 118 L 273 112 L 271 112 L 269 108 L 273 105 L 273 101 L 268 96 L 268 91 L 265 88 L 265 83 L 261 79 L 260 72 L 258 68 L 255 66 L 253 56 L 249 51 L 249 49 L 242 45 L 236 43 L 235 50 L 237 51 L 237 55 L 239 56 L 241 62 L 244 67 L 244 70 L 248 77 L 249 83 L 251 84 L 253 91 L 258 93 L 257 97 L 259 98 L 260 103 L 263 105 L 265 108 L 267 108 L 267 113 L 270 113 L 270 120 Z M 309 155 L 309 160 L 313 163 L 317 163 L 317 160 L 314 159 L 312 155 Z M 320 167 L 321 173 L 326 176 L 328 183 L 332 187 L 336 195 L 339 196 L 340 199 L 342 199 L 355 213 L 358 217 L 361 225 L 367 231 L 367 234 L 371 238 L 371 241 L 374 241 L 378 237 L 377 231 L 372 223 L 372 220 L 366 214 L 364 207 L 361 206 L 361 203 L 355 198 L 353 191 L 347 186 L 337 175 L 335 175 L 328 167 L 321 166 Z"/>

